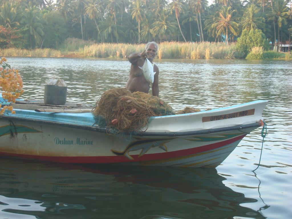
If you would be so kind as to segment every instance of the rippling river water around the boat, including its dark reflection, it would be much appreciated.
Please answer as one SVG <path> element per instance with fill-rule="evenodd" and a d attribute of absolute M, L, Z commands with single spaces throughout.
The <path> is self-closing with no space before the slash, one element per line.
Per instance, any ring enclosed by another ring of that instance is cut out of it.
<path fill-rule="evenodd" d="M 292 62 L 155 60 L 160 98 L 175 110 L 269 100 L 261 129 L 216 169 L 67 165 L 0 159 L 0 218 L 292 218 Z M 124 87 L 129 63 L 114 59 L 9 58 L 22 98 L 41 99 L 53 75 L 67 100 L 94 104 Z"/>

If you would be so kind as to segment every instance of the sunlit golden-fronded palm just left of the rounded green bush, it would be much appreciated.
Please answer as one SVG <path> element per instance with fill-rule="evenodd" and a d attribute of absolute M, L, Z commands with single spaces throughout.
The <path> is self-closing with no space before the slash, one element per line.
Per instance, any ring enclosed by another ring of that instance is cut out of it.
<path fill-rule="evenodd" d="M 235 12 L 236 10 L 232 10 L 230 6 L 223 6 L 222 9 L 217 12 L 217 16 L 214 17 L 214 22 L 211 25 L 211 28 L 216 28 L 216 37 L 225 33 L 226 44 L 228 44 L 228 30 L 232 34 L 237 35 L 237 22 L 233 21 L 234 18 L 232 17 Z"/>

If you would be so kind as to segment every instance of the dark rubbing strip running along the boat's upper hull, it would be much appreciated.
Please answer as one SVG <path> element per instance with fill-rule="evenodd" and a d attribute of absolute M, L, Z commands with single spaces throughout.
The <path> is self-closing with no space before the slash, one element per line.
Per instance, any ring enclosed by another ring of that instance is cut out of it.
<path fill-rule="evenodd" d="M 38 120 L 38 119 L 28 119 L 28 118 L 20 118 L 20 117 L 11 117 L 1 115 L 0 119 L 7 119 L 8 121 L 18 120 L 18 121 L 28 121 L 34 123 L 41 123 L 46 125 L 57 125 L 69 128 L 77 128 L 82 130 L 88 131 L 97 131 L 101 133 L 109 133 L 113 135 L 111 129 L 106 127 L 97 127 L 97 126 L 84 126 L 84 125 L 76 125 L 76 124 L 69 124 L 69 123 L 61 123 L 61 122 L 54 122 L 54 121 L 45 121 L 45 120 Z M 131 132 L 125 133 L 126 135 L 131 136 L 171 136 L 171 137 L 179 137 L 179 136 L 190 136 L 190 135 L 201 135 L 201 134 L 210 134 L 210 133 L 217 133 L 223 131 L 233 131 L 233 130 L 242 130 L 246 128 L 258 128 L 261 126 L 260 122 L 251 123 L 251 124 L 244 124 L 244 125 L 237 125 L 237 126 L 229 126 L 229 127 L 222 127 L 222 128 L 211 128 L 211 129 L 204 129 L 204 130 L 197 130 L 197 131 L 184 131 L 184 132 Z"/>

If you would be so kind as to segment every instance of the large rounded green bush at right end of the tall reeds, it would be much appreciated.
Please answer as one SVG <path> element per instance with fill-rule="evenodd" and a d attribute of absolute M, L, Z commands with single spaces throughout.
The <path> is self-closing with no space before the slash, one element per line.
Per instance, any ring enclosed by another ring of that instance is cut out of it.
<path fill-rule="evenodd" d="M 260 29 L 251 29 L 249 32 L 243 30 L 235 46 L 236 58 L 245 58 L 253 47 L 263 47 L 263 50 L 267 50 L 269 47 L 267 37 Z"/>

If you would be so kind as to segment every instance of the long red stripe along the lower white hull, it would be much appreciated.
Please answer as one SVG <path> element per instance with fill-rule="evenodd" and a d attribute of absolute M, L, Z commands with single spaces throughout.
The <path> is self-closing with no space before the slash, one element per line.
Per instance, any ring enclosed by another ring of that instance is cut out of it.
<path fill-rule="evenodd" d="M 245 134 L 246 135 L 246 134 Z M 25 159 L 36 159 L 36 160 L 43 160 L 43 161 L 52 161 L 52 162 L 59 162 L 59 163 L 79 163 L 79 164 L 102 164 L 102 163 L 123 163 L 123 162 L 139 162 L 139 161 L 149 161 L 149 160 L 160 160 L 160 159 L 167 159 L 173 157 L 181 157 L 191 154 L 197 154 L 201 152 L 206 152 L 209 150 L 213 150 L 219 147 L 223 147 L 225 145 L 229 145 L 233 142 L 241 140 L 244 138 L 245 135 L 237 136 L 236 138 L 232 138 L 229 140 L 225 140 L 222 142 L 217 142 L 209 145 L 203 145 L 200 147 L 195 147 L 191 149 L 185 150 L 178 150 L 173 152 L 163 152 L 163 153 L 156 153 L 156 154 L 144 154 L 141 157 L 139 155 L 131 155 L 133 160 L 128 159 L 125 156 L 91 156 L 91 157 L 51 157 L 51 156 L 38 156 L 38 155 L 29 155 L 29 154 L 14 154 L 14 153 L 6 153 L 0 152 L 0 156 L 6 157 L 19 157 Z"/>

